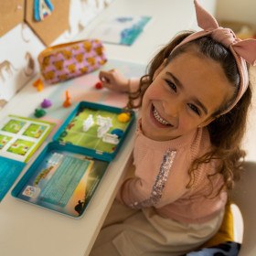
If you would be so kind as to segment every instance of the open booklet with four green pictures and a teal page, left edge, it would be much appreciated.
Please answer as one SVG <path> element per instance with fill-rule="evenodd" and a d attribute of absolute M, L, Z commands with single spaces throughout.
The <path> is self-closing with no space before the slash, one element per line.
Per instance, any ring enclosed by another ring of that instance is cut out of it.
<path fill-rule="evenodd" d="M 12 114 L 0 123 L 0 201 L 54 125 Z"/>

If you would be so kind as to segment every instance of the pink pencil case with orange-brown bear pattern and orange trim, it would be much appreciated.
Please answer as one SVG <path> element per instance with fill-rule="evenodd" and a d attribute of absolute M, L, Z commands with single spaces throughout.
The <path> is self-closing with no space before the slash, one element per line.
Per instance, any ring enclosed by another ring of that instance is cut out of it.
<path fill-rule="evenodd" d="M 101 40 L 88 39 L 46 48 L 38 56 L 42 76 L 48 83 L 88 74 L 107 61 Z"/>

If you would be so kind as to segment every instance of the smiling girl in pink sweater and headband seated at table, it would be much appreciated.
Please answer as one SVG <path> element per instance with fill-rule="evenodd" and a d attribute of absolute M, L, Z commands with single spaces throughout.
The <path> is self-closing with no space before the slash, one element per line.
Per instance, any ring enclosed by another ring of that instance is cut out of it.
<path fill-rule="evenodd" d="M 104 87 L 129 91 L 128 107 L 141 112 L 135 173 L 123 181 L 93 256 L 181 255 L 219 229 L 244 157 L 245 59 L 254 64 L 256 41 L 240 41 L 195 5 L 204 30 L 176 37 L 139 83 L 116 69 L 100 73 Z"/>

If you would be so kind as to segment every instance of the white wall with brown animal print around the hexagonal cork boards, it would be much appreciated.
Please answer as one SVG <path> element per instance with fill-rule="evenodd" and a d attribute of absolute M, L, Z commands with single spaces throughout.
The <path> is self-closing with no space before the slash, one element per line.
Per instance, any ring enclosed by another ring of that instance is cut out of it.
<path fill-rule="evenodd" d="M 0 0 L 0 7 L 5 1 Z M 82 27 L 88 26 L 112 1 L 70 0 L 69 29 L 51 45 L 71 41 Z M 38 73 L 37 56 L 44 48 L 43 42 L 25 21 L 0 37 L 0 109 Z"/>

